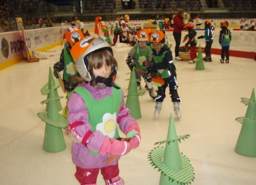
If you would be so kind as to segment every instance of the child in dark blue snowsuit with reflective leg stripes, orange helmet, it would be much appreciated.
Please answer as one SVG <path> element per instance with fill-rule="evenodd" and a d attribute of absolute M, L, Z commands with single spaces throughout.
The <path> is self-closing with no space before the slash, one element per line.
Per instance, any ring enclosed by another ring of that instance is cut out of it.
<path fill-rule="evenodd" d="M 165 44 L 165 35 L 162 31 L 154 31 L 149 35 L 149 42 L 153 45 L 153 65 L 151 66 L 151 75 L 155 77 L 157 74 L 161 75 L 164 80 L 164 84 L 158 87 L 157 97 L 155 98 L 155 119 L 160 114 L 162 109 L 162 102 L 164 101 L 165 89 L 169 85 L 169 94 L 171 95 L 171 101 L 178 119 L 181 119 L 180 112 L 180 97 L 178 96 L 178 84 L 176 68 L 173 64 L 173 56 L 169 47 Z"/>

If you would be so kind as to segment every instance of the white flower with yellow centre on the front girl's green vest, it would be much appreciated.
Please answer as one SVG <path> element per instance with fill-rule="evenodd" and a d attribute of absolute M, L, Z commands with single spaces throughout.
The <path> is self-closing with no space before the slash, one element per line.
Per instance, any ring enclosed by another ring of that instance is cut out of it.
<path fill-rule="evenodd" d="M 117 128 L 117 113 L 105 113 L 102 117 L 102 122 L 98 123 L 96 130 L 101 131 L 105 136 L 109 138 L 114 138 L 115 131 Z"/>

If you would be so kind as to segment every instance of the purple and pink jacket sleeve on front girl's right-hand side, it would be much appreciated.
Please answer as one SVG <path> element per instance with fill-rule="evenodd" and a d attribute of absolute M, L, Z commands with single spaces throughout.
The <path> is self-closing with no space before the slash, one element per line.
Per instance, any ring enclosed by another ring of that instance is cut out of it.
<path fill-rule="evenodd" d="M 132 124 L 137 124 L 137 121 L 129 114 L 130 110 L 128 108 L 124 108 L 124 93 L 122 91 L 122 103 L 120 106 L 120 112 L 117 115 L 117 122 L 119 123 L 120 130 L 127 134 L 127 129 Z"/>

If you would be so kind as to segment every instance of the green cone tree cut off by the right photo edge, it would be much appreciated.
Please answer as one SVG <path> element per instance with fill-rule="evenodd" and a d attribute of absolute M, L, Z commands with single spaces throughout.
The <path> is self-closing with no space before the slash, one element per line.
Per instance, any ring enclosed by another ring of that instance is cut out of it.
<path fill-rule="evenodd" d="M 256 101 L 254 89 L 252 89 L 251 98 L 241 98 L 241 102 L 248 105 L 248 107 L 245 117 L 236 119 L 242 123 L 242 128 L 235 151 L 241 155 L 256 157 Z"/>

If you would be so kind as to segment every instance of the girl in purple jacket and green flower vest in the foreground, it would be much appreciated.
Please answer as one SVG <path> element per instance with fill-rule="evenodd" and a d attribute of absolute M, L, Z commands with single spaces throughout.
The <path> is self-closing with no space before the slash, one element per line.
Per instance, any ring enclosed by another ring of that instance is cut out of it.
<path fill-rule="evenodd" d="M 122 89 L 114 83 L 117 61 L 109 44 L 98 37 L 81 40 L 72 47 L 71 54 L 80 75 L 73 79 L 80 84 L 67 104 L 75 176 L 81 185 L 96 185 L 101 169 L 106 185 L 123 185 L 118 159 L 138 147 L 140 130 L 124 108 Z M 120 140 L 118 126 L 130 141 Z M 117 157 L 107 165 L 111 155 Z"/>

